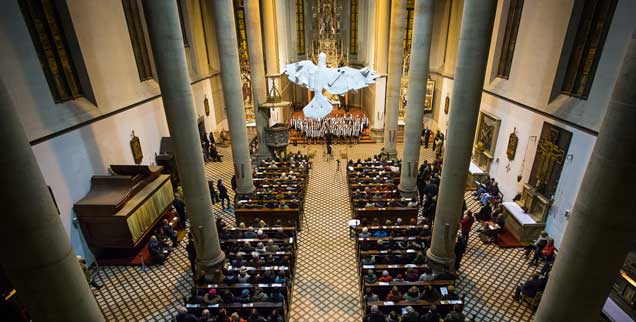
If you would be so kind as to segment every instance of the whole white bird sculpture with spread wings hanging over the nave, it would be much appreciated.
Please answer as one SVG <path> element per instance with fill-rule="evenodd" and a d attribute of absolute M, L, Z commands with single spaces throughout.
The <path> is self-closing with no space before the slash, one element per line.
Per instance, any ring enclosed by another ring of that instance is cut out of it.
<path fill-rule="evenodd" d="M 292 83 L 307 87 L 314 92 L 314 98 L 303 108 L 306 117 L 323 118 L 331 113 L 333 106 L 323 94 L 327 90 L 333 95 L 344 95 L 375 83 L 378 75 L 369 67 L 327 67 L 327 54 L 318 55 L 318 66 L 311 60 L 303 60 L 285 66 L 285 74 Z"/>

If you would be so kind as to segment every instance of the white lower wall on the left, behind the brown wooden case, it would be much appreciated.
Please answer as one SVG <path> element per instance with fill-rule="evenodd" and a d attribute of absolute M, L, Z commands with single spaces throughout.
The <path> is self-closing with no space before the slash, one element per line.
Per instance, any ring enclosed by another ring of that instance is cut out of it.
<path fill-rule="evenodd" d="M 193 86 L 197 115 L 203 114 L 203 96 L 214 108 L 209 81 Z M 207 129 L 216 123 L 214 113 L 205 117 Z M 144 154 L 142 164 L 154 163 L 161 137 L 170 136 L 161 99 L 152 100 L 122 113 L 81 127 L 33 146 L 46 183 L 60 208 L 64 228 L 76 252 L 92 261 L 79 227 L 73 224 L 73 204 L 90 189 L 93 175 L 107 174 L 111 164 L 134 164 L 129 141 L 132 131 L 139 137 Z"/>

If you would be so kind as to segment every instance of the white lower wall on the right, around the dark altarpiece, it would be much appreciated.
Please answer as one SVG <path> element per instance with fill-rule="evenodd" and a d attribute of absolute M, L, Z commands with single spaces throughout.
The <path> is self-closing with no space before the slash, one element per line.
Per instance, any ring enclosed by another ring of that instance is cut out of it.
<path fill-rule="evenodd" d="M 444 78 L 441 89 L 442 97 L 445 98 L 447 94 L 451 95 L 451 106 L 453 82 L 452 79 Z M 439 100 L 435 108 L 443 110 L 443 98 Z M 499 182 L 499 188 L 504 194 L 504 200 L 506 201 L 510 201 L 517 193 L 521 192 L 523 184 L 528 182 L 543 122 L 557 125 L 572 132 L 572 142 L 568 149 L 568 155 L 572 157 L 566 160 L 563 166 L 559 186 L 554 196 L 554 203 L 550 208 L 546 223 L 547 232 L 555 239 L 558 246 L 567 224 L 565 212 L 572 209 L 574 205 L 592 148 L 596 142 L 596 136 L 487 93 L 482 95 L 481 110 L 501 119 L 494 161 L 490 167 L 489 174 Z M 444 114 L 443 111 L 439 113 L 437 125 L 443 132 L 446 132 L 448 115 Z M 510 133 L 515 129 L 519 137 L 519 143 L 514 160 L 510 161 L 506 155 L 506 150 Z M 508 167 L 510 170 L 507 169 Z M 523 176 L 521 181 L 517 181 L 518 175 Z"/>

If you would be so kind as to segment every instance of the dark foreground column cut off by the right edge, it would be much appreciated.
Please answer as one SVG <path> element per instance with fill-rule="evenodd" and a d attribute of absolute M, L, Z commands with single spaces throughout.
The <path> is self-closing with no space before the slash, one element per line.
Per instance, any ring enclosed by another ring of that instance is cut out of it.
<path fill-rule="evenodd" d="M 632 34 L 534 321 L 596 322 L 636 235 L 636 33 Z M 576 156 L 575 156 L 576 157 Z"/>

